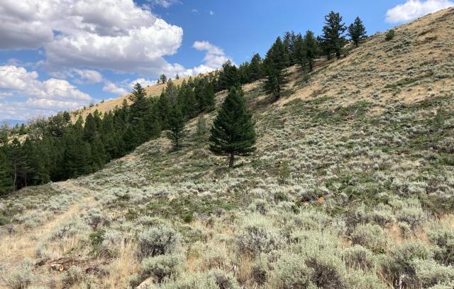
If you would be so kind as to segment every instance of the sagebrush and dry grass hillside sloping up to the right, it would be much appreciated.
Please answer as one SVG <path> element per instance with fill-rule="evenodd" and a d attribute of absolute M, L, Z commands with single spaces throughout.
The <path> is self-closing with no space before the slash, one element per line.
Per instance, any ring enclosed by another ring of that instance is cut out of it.
<path fill-rule="evenodd" d="M 291 67 L 275 103 L 243 87 L 233 170 L 193 119 L 180 151 L 0 198 L 0 287 L 454 288 L 454 9 L 395 31 Z"/>

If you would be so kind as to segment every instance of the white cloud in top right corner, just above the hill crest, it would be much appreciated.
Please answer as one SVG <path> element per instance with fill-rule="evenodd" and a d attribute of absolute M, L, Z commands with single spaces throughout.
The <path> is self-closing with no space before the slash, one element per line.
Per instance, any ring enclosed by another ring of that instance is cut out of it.
<path fill-rule="evenodd" d="M 411 21 L 452 6 L 454 2 L 448 0 L 407 0 L 404 4 L 389 9 L 386 13 L 386 21 L 389 23 Z"/>

